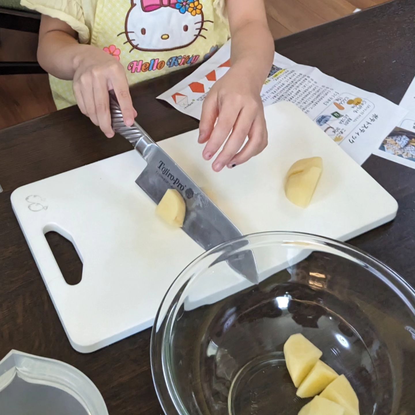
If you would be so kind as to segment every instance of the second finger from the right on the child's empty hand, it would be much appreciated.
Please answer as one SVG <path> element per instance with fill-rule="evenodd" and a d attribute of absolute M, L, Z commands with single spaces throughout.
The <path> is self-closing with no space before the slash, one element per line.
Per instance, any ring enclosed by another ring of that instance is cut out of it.
<path fill-rule="evenodd" d="M 229 136 L 222 151 L 217 156 L 215 162 L 212 165 L 213 170 L 220 171 L 224 168 L 239 149 L 244 144 L 245 139 L 251 129 L 251 125 L 255 118 L 255 111 L 248 107 L 242 108 L 239 112 L 238 118 L 232 129 L 232 133 Z"/>

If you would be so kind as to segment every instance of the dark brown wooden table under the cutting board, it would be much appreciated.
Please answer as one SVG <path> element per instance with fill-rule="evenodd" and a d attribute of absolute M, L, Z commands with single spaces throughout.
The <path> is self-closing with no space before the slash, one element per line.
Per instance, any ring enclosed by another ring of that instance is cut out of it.
<path fill-rule="evenodd" d="M 385 5 L 275 42 L 293 61 L 399 103 L 415 76 L 415 2 Z M 198 123 L 155 99 L 188 70 L 133 88 L 138 121 L 157 140 Z M 272 137 L 271 137 L 272 139 Z M 0 132 L 0 357 L 10 349 L 65 361 L 89 376 L 110 414 L 160 414 L 149 359 L 150 330 L 93 354 L 75 352 L 12 212 L 17 187 L 130 149 L 105 139 L 72 107 Z M 399 203 L 396 220 L 351 241 L 415 285 L 415 170 L 375 156 L 364 164 Z M 59 248 L 59 247 L 58 247 Z M 69 257 L 61 264 L 71 269 Z"/>

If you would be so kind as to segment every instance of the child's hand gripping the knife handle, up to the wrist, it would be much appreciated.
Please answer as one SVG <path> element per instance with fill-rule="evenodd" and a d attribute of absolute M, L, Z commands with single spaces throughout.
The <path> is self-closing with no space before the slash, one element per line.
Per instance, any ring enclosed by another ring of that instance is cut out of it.
<path fill-rule="evenodd" d="M 81 112 L 90 117 L 107 137 L 113 137 L 108 94 L 108 91 L 113 89 L 125 125 L 132 125 L 137 112 L 132 106 L 122 65 L 110 54 L 88 45 L 83 46 L 83 51 L 76 57 L 75 64 L 73 93 Z"/>

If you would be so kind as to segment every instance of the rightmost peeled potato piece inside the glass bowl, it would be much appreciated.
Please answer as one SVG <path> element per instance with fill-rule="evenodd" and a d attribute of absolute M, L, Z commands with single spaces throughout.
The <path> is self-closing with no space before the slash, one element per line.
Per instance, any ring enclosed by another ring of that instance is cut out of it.
<path fill-rule="evenodd" d="M 320 396 L 341 405 L 344 415 L 359 415 L 359 399 L 344 375 L 334 379 Z"/>

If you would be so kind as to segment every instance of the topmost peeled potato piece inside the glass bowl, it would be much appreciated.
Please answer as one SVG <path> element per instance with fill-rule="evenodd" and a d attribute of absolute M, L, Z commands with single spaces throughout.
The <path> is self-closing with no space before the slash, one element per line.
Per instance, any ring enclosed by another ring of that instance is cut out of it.
<path fill-rule="evenodd" d="M 300 386 L 322 354 L 322 351 L 317 349 L 303 334 L 293 334 L 288 338 L 284 344 L 284 357 L 296 388 Z"/>

